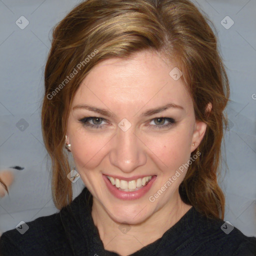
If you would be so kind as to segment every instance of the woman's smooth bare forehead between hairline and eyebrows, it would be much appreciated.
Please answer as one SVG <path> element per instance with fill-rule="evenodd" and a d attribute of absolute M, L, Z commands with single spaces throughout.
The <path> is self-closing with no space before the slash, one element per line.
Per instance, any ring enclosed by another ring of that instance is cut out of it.
<path fill-rule="evenodd" d="M 83 79 L 75 103 L 95 100 L 148 107 L 172 102 L 191 107 L 182 79 L 169 74 L 175 63 L 156 52 L 141 51 L 127 58 L 110 58 L 96 64 Z M 97 99 L 96 99 L 97 98 Z"/>

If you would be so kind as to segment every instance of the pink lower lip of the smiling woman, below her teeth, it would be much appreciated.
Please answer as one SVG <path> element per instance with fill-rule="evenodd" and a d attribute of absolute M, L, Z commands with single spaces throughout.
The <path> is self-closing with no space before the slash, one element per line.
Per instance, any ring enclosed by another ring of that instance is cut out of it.
<path fill-rule="evenodd" d="M 150 181 L 145 186 L 142 186 L 140 189 L 132 192 L 120 191 L 115 185 L 111 184 L 110 180 L 104 174 L 103 179 L 105 180 L 106 186 L 111 194 L 114 195 L 116 198 L 122 200 L 135 200 L 142 197 L 150 189 L 154 180 L 156 179 L 156 176 L 152 176 Z"/>

